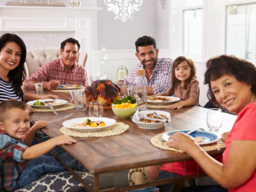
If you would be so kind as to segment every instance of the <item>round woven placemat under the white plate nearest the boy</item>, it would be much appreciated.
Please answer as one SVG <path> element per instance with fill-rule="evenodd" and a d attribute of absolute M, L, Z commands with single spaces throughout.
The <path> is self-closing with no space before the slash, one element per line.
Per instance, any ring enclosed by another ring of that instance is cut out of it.
<path fill-rule="evenodd" d="M 129 125 L 118 122 L 115 125 L 111 127 L 107 127 L 106 129 L 102 129 L 100 131 L 92 131 L 92 132 L 83 132 L 83 131 L 75 131 L 73 129 L 69 129 L 67 127 L 61 127 L 60 132 L 62 134 L 66 134 L 68 136 L 74 136 L 74 137 L 108 137 L 108 136 L 113 136 L 117 134 L 122 134 L 125 132 L 127 129 L 129 129 Z"/>

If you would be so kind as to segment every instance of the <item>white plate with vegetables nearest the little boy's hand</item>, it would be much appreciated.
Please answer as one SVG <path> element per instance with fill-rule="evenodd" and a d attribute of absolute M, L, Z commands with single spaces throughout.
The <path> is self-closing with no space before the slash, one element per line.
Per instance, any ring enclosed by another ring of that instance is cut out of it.
<path fill-rule="evenodd" d="M 106 124 L 105 127 L 73 127 L 73 124 L 82 124 L 84 120 L 90 119 L 92 122 L 96 122 L 98 120 L 104 122 Z M 100 131 L 101 129 L 105 129 L 106 127 L 110 127 L 116 124 L 116 120 L 113 118 L 106 118 L 106 117 L 82 117 L 82 118 L 72 118 L 62 123 L 64 127 L 74 129 L 76 131 Z"/>

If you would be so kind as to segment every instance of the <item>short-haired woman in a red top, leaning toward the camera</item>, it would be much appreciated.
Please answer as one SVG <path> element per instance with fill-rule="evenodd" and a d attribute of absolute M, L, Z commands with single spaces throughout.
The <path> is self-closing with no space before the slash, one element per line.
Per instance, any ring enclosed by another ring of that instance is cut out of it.
<path fill-rule="evenodd" d="M 237 114 L 232 130 L 224 134 L 223 163 L 214 160 L 193 138 L 181 132 L 170 136 L 172 140 L 167 142 L 169 147 L 193 157 L 207 175 L 228 191 L 256 189 L 255 78 L 255 66 L 234 56 L 223 55 L 207 61 L 205 84 L 209 84 L 209 99 Z"/>

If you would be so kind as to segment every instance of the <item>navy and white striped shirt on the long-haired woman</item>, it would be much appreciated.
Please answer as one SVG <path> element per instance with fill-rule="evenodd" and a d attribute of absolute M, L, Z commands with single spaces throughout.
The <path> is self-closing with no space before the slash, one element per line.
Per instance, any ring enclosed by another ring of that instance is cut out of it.
<path fill-rule="evenodd" d="M 0 78 L 0 102 L 8 99 L 22 100 L 14 90 L 14 84 Z"/>

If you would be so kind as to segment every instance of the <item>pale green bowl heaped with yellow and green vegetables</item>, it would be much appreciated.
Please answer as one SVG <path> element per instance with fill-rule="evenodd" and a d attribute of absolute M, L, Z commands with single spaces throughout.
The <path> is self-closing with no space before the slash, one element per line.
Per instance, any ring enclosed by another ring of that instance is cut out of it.
<path fill-rule="evenodd" d="M 129 118 L 137 109 L 136 99 L 129 95 L 124 99 L 116 98 L 112 104 L 112 111 L 119 118 Z"/>

